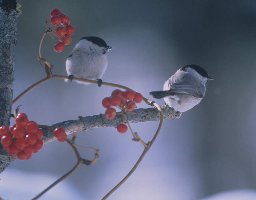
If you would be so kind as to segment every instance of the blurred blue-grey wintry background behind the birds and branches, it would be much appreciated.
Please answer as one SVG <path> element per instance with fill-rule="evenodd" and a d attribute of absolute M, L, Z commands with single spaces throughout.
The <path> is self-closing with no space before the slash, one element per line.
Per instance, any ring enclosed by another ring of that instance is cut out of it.
<path fill-rule="evenodd" d="M 13 99 L 46 76 L 37 59 L 38 46 L 53 8 L 68 15 L 75 27 L 72 43 L 61 53 L 53 50 L 49 35 L 43 41 L 41 53 L 54 65 L 54 74 L 66 75 L 66 58 L 81 37 L 98 36 L 113 48 L 107 54 L 108 69 L 102 80 L 126 85 L 147 98 L 152 99 L 149 92 L 161 90 L 164 81 L 186 64 L 202 66 L 214 79 L 199 105 L 179 120 L 164 121 L 137 170 L 108 199 L 191 200 L 226 190 L 255 189 L 255 1 L 17 2 L 22 14 L 18 17 Z M 114 89 L 50 80 L 25 95 L 13 110 L 22 104 L 20 111 L 30 120 L 52 125 L 104 113 L 101 101 Z M 144 141 L 151 140 L 157 126 L 158 122 L 132 124 Z M 119 134 L 114 128 L 79 133 L 77 144 L 100 149 L 98 161 L 80 166 L 40 199 L 103 198 L 143 151 L 131 139 L 129 132 Z M 80 149 L 80 154 L 86 159 L 94 157 L 90 150 Z M 32 159 L 17 159 L 0 174 L 1 197 L 31 199 L 75 162 L 68 144 L 45 144 Z"/>

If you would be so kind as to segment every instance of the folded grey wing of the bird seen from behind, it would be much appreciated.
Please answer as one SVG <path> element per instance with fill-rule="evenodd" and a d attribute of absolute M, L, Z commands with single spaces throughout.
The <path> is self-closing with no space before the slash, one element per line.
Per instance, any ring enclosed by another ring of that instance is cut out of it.
<path fill-rule="evenodd" d="M 198 91 L 197 88 L 193 87 L 192 85 L 179 82 L 173 83 L 169 92 L 188 94 L 198 98 L 203 98 L 204 94 L 203 91 Z"/>

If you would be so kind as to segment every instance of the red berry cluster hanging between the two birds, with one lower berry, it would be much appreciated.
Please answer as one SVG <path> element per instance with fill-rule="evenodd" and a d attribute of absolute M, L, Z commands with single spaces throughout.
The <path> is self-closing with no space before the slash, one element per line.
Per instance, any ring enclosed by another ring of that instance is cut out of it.
<path fill-rule="evenodd" d="M 128 101 L 127 101 L 128 100 Z M 143 96 L 133 90 L 114 90 L 110 97 L 105 97 L 102 100 L 102 105 L 107 108 L 105 116 L 108 120 L 114 119 L 116 116 L 116 109 L 111 106 L 116 106 L 122 110 L 125 114 L 126 111 L 133 111 L 136 108 L 135 103 L 140 103 L 143 100 Z M 125 124 L 118 124 L 117 130 L 119 133 L 125 133 L 128 127 Z"/>

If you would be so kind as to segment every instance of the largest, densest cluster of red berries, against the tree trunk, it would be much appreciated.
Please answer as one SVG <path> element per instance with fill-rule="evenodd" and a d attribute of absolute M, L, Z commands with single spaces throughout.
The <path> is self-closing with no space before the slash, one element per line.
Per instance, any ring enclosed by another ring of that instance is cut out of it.
<path fill-rule="evenodd" d="M 1 143 L 11 156 L 28 160 L 42 149 L 43 131 L 36 122 L 28 121 L 25 113 L 19 113 L 15 122 L 10 129 L 7 126 L 0 127 Z"/>

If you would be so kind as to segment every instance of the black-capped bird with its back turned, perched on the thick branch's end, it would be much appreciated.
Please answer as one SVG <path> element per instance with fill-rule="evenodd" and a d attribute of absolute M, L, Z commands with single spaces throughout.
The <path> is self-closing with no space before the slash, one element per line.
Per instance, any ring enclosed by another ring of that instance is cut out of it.
<path fill-rule="evenodd" d="M 156 99 L 163 98 L 174 110 L 185 112 L 203 99 L 208 80 L 213 79 L 202 67 L 185 65 L 164 83 L 163 91 L 153 91 L 149 94 Z"/>

